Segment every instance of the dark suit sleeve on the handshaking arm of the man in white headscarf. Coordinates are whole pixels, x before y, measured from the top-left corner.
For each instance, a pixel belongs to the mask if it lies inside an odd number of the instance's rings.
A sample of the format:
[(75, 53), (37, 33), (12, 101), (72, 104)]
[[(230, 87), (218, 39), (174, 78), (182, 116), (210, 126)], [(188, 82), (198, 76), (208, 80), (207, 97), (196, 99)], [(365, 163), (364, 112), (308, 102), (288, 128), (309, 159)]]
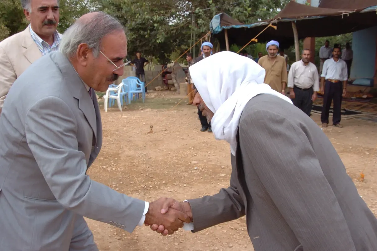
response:
[(236, 175), (231, 174), (230, 186), (218, 194), (188, 200), (193, 215), (193, 233), (245, 215), (245, 205), (235, 185)]

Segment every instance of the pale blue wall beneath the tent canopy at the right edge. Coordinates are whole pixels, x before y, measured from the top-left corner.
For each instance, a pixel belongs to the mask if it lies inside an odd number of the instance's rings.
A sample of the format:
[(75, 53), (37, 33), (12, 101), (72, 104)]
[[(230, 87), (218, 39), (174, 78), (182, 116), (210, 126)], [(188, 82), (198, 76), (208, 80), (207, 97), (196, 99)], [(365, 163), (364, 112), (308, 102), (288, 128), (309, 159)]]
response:
[(353, 32), (351, 79), (372, 79), (375, 72), (377, 26)]

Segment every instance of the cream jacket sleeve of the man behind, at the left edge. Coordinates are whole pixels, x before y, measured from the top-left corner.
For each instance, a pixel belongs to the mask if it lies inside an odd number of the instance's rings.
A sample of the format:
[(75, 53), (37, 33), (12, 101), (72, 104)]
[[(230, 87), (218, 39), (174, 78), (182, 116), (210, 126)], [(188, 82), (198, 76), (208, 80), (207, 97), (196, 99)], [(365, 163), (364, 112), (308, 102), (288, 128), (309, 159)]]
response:
[(0, 47), (0, 115), (3, 109), (6, 95), (11, 89), (11, 86), (16, 80), (16, 74), (14, 72), (11, 62), (9, 62), (8, 55), (5, 50)]

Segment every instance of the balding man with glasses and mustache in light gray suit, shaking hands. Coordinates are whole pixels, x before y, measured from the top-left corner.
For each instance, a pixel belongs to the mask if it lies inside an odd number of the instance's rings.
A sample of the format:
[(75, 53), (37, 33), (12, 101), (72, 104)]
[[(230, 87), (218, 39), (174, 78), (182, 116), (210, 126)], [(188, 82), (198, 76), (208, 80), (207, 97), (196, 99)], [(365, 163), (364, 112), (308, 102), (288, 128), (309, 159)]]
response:
[[(122, 25), (102, 12), (81, 17), (60, 52), (33, 63), (14, 82), (0, 117), (0, 250), (98, 250), (83, 216), (132, 232), (143, 223), (188, 221), (120, 194), (86, 175), (101, 149), (94, 91), (123, 75)], [(46, 71), (48, 69), (48, 71)]]

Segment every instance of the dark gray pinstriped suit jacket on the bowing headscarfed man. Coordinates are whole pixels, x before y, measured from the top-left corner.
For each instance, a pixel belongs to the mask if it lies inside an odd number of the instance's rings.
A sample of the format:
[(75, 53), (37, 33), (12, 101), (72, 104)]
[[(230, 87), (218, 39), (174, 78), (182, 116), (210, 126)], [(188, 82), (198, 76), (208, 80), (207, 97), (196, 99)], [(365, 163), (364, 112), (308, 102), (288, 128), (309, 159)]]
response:
[(230, 187), (189, 200), (194, 232), (246, 214), (255, 251), (377, 250), (375, 216), (308, 115), (258, 95), (242, 113), (238, 142)]

